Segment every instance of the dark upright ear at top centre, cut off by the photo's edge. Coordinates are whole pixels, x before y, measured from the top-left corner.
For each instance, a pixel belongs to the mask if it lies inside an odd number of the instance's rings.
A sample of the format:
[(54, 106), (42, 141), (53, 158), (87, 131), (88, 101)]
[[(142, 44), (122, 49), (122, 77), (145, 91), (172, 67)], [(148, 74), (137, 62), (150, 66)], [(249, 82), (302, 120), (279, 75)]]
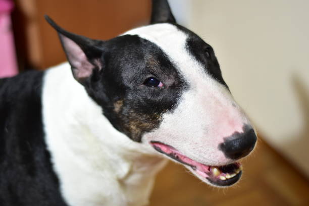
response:
[(150, 24), (176, 23), (167, 0), (152, 0), (152, 12)]

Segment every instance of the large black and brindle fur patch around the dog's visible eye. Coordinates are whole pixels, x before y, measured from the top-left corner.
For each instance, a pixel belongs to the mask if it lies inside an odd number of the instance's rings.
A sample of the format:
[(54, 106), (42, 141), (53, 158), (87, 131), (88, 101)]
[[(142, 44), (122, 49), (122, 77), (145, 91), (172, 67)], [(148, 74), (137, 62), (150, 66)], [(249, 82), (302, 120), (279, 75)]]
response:
[[(139, 142), (143, 133), (160, 125), (163, 113), (173, 111), (186, 83), (148, 40), (125, 35), (102, 44), (102, 69), (93, 73), (86, 90), (116, 129)], [(149, 77), (164, 86), (147, 87), (143, 82)]]

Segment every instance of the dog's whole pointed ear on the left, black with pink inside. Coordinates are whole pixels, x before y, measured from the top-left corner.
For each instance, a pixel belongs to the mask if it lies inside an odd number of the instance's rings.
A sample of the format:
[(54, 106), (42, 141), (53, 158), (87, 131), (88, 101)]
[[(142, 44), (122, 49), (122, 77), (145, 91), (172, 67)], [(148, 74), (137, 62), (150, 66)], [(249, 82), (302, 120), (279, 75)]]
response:
[(52, 19), (45, 15), (46, 21), (54, 27), (59, 35), (67, 59), (72, 67), (74, 78), (83, 84), (91, 76), (94, 69), (102, 68), (102, 50), (99, 49), (99, 40), (70, 33), (59, 27)]

